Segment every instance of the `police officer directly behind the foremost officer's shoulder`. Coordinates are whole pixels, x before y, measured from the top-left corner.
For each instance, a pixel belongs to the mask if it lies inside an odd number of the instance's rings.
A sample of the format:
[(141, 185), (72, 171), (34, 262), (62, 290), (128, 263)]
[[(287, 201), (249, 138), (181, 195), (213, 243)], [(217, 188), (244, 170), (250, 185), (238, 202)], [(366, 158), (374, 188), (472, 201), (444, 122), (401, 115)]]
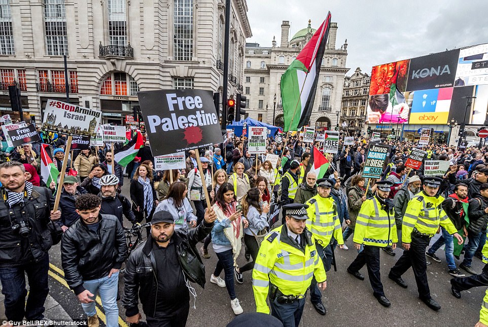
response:
[[(307, 229), (312, 233), (316, 240), (317, 253), (322, 259), (325, 271), (330, 270), (332, 263), (332, 236), (337, 240), (339, 247), (342, 248), (342, 229), (340, 221), (337, 219), (337, 207), (334, 199), (330, 196), (330, 191), (335, 183), (327, 178), (317, 180), (318, 194), (308, 200), (306, 221)], [(317, 286), (317, 280), (312, 278), (310, 284), (310, 301), (321, 315), (327, 313), (322, 303), (322, 294)]]

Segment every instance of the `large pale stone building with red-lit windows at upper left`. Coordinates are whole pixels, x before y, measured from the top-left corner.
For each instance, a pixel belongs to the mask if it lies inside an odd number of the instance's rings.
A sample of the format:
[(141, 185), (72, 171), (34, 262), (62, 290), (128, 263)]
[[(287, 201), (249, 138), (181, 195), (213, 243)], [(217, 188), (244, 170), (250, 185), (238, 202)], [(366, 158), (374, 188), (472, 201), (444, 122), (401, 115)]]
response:
[[(232, 1), (231, 94), (242, 89), (247, 11), (246, 0)], [(37, 120), (47, 99), (65, 101), (68, 79), (70, 102), (119, 125), (139, 90), (222, 91), (223, 0), (0, 0), (0, 12), (1, 113), (13, 84)]]

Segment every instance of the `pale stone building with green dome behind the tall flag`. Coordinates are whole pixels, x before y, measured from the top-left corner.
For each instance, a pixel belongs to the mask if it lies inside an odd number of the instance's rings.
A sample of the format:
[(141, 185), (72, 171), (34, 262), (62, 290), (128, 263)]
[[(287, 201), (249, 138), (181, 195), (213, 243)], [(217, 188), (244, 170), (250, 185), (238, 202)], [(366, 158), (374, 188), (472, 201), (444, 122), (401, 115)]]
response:
[[(253, 119), (275, 126), (284, 124), (281, 76), (316, 31), (308, 21), (308, 26), (290, 39), (290, 28), (290, 22), (283, 21), (279, 46), (275, 37), (271, 47), (246, 44), (243, 93), (248, 99), (247, 113)], [(347, 40), (337, 49), (336, 35), (337, 23), (331, 23), (310, 126), (330, 129), (337, 125), (344, 76), (349, 68), (346, 68)]]

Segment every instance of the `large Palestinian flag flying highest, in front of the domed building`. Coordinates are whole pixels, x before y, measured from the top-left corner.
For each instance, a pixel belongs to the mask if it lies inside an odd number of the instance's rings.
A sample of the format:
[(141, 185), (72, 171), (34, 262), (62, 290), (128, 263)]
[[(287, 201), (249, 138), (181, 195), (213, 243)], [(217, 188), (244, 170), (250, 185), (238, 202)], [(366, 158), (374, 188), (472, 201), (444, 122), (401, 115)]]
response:
[(285, 132), (298, 130), (310, 119), (329, 27), (330, 12), (327, 19), (282, 75), (281, 97)]

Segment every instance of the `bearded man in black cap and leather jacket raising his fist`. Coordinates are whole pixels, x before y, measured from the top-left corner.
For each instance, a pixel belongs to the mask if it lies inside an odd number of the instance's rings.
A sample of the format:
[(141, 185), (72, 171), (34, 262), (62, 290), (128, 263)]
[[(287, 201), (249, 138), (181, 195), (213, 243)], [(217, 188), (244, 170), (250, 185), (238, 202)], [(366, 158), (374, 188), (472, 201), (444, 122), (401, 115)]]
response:
[[(149, 326), (185, 326), (190, 310), (189, 281), (205, 284), (205, 267), (195, 244), (212, 231), (217, 215), (206, 209), (196, 229), (175, 231), (174, 217), (167, 211), (154, 213), (151, 238), (131, 252), (124, 275), (127, 322), (138, 323), (138, 298)], [(188, 289), (187, 289), (188, 287)]]

